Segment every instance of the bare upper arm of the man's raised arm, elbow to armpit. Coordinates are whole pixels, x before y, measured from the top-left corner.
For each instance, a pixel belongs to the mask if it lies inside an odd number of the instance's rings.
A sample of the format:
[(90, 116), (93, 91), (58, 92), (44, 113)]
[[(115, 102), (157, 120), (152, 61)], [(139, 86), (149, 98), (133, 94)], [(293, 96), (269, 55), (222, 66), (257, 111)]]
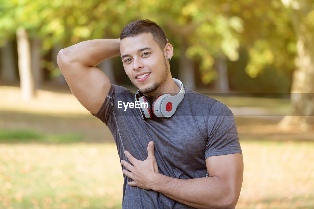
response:
[(97, 67), (78, 62), (61, 63), (59, 67), (76, 99), (95, 115), (109, 92), (109, 78)]

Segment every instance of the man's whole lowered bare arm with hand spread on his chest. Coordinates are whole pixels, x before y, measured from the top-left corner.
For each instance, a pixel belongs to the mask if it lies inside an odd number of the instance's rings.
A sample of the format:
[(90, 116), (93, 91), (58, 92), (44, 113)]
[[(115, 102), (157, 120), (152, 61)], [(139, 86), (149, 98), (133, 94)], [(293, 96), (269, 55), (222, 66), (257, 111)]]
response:
[[(159, 173), (154, 156), (154, 143), (149, 142), (147, 159), (133, 157), (125, 151), (130, 163), (122, 160), (127, 169), (122, 172), (133, 179), (128, 185), (145, 190), (155, 190), (165, 196), (196, 208), (235, 208), (243, 180), (243, 158), (241, 153), (211, 156), (206, 158), (210, 177), (177, 179)], [(212, 169), (208, 169), (212, 168)]]

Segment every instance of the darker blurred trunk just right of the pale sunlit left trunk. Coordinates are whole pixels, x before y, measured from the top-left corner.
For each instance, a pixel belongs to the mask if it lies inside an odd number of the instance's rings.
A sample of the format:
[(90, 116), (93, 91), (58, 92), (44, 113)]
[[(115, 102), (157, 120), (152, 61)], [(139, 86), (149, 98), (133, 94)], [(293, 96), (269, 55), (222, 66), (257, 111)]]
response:
[(35, 38), (31, 41), (31, 66), (32, 66), (32, 72), (34, 75), (34, 81), (35, 81), (35, 88), (41, 88), (41, 85), (43, 83), (43, 72), (42, 68), (40, 66), (41, 62), (41, 40), (38, 38)]

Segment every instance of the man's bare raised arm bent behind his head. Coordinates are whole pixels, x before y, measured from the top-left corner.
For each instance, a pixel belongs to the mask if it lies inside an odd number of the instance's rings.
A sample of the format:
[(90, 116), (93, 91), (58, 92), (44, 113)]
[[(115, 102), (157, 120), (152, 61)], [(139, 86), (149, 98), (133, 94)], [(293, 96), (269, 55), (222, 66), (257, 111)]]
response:
[(120, 39), (96, 39), (62, 49), (57, 56), (72, 93), (93, 114), (100, 109), (111, 85), (105, 73), (95, 66), (119, 55)]

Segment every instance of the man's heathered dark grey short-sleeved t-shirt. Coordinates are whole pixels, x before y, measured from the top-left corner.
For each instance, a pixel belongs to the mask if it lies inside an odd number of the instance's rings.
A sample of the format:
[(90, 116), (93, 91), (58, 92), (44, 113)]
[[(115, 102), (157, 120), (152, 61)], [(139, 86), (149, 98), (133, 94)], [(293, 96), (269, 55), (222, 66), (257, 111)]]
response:
[[(142, 119), (139, 109), (117, 108), (118, 101), (133, 102), (134, 94), (111, 85), (95, 115), (110, 129), (120, 160), (124, 151), (135, 158), (147, 158), (147, 146), (155, 144), (154, 156), (160, 174), (179, 179), (206, 177), (205, 159), (210, 156), (242, 153), (236, 122), (221, 102), (185, 88), (185, 96), (170, 118)], [(125, 169), (122, 166), (122, 169)], [(160, 192), (131, 187), (124, 175), (122, 208), (192, 208)]]

